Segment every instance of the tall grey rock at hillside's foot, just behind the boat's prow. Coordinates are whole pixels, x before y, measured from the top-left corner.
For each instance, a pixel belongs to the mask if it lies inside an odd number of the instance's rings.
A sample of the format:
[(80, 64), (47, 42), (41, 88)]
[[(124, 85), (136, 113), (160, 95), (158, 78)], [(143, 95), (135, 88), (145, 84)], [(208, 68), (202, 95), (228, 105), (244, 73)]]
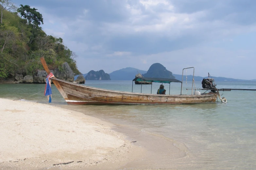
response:
[(56, 68), (53, 71), (53, 74), (56, 78), (59, 78), (61, 80), (66, 80), (66, 81), (70, 81), (70, 82), (74, 81), (75, 74), (73, 73), (72, 69), (70, 68), (70, 66), (68, 65), (67, 62), (62, 64), (61, 69)]

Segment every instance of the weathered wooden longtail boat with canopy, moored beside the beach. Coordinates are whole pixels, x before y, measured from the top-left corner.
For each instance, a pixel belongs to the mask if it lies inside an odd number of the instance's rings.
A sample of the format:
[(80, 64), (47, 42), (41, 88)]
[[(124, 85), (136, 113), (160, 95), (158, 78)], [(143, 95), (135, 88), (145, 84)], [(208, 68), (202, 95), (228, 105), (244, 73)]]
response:
[[(50, 70), (44, 60), (41, 57), (41, 62), (47, 74), (50, 74)], [(192, 67), (191, 67), (192, 68)], [(193, 67), (194, 68), (194, 67)], [(186, 68), (187, 69), (187, 68)], [(184, 70), (184, 69), (183, 69)], [(193, 75), (194, 77), (194, 75)], [(135, 78), (136, 79), (136, 78)], [(135, 81), (133, 79), (132, 81)], [(163, 95), (163, 94), (146, 94), (135, 92), (121, 92), (114, 90), (106, 90), (95, 87), (89, 87), (72, 83), (69, 81), (61, 80), (59, 78), (51, 78), (52, 82), (59, 90), (67, 104), (71, 105), (85, 105), (85, 104), (196, 104), (196, 103), (214, 103), (218, 97), (216, 93), (200, 94), (196, 93), (191, 95)], [(182, 81), (176, 79), (161, 79), (161, 78), (140, 78), (137, 81), (147, 82), (160, 82), (160, 83), (181, 83), (182, 93)], [(193, 78), (194, 80), (194, 78)], [(193, 81), (194, 83), (194, 81)], [(192, 91), (193, 91), (192, 83)], [(133, 85), (133, 83), (132, 83)], [(151, 85), (152, 92), (152, 85)]]

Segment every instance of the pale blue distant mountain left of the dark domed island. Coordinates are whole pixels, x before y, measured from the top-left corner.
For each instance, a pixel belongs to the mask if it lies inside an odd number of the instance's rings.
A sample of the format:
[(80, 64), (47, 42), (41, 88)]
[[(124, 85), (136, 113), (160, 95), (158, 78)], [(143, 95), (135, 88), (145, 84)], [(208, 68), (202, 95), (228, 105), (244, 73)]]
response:
[(137, 68), (127, 67), (113, 71), (109, 75), (111, 80), (133, 80), (136, 74), (144, 74), (146, 72), (147, 71), (139, 70)]

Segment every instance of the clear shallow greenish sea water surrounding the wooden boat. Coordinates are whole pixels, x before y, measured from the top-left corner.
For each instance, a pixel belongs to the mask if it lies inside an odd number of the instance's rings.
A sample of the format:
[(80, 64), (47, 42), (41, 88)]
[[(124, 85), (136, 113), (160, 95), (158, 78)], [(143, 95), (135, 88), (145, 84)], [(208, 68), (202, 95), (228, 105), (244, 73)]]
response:
[[(86, 81), (85, 85), (151, 93), (151, 85), (133, 83), (132, 89), (131, 81)], [(152, 84), (152, 93), (157, 92), (159, 85)], [(180, 94), (180, 85), (171, 83), (170, 94)], [(201, 88), (201, 82), (196, 81), (195, 85)], [(169, 94), (169, 84), (164, 86)], [(191, 81), (183, 82), (182, 94), (191, 94), (191, 90), (186, 90), (191, 88)], [(217, 82), (217, 88), (256, 89), (256, 82), (223, 81)], [(54, 86), (52, 91), (51, 105), (110, 121), (138, 145), (151, 149), (151, 157), (145, 157), (140, 164), (127, 165), (128, 168), (256, 169), (256, 91), (220, 92), (227, 103), (218, 100), (209, 104), (114, 106), (71, 106)], [(0, 84), (1, 98), (47, 103), (43, 93), (43, 84)], [(175, 158), (164, 140), (170, 141), (184, 155)]]

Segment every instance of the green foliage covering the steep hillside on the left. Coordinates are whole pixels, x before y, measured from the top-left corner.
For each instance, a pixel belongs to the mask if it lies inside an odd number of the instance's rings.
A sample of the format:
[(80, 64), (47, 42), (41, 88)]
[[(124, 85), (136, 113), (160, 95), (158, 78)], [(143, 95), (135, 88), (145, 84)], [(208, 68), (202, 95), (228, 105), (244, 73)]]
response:
[[(41, 14), (38, 21), (33, 17), (30, 21), (38, 24), (41, 22), (40, 17)], [(37, 70), (43, 70), (40, 62), (42, 56), (51, 70), (61, 68), (67, 62), (75, 75), (80, 74), (75, 61), (76, 54), (62, 42), (62, 38), (46, 35), (38, 25), (27, 24), (27, 20), (20, 18), (17, 13), (3, 10), (3, 24), (0, 25), (0, 78), (15, 73), (33, 76)]]

